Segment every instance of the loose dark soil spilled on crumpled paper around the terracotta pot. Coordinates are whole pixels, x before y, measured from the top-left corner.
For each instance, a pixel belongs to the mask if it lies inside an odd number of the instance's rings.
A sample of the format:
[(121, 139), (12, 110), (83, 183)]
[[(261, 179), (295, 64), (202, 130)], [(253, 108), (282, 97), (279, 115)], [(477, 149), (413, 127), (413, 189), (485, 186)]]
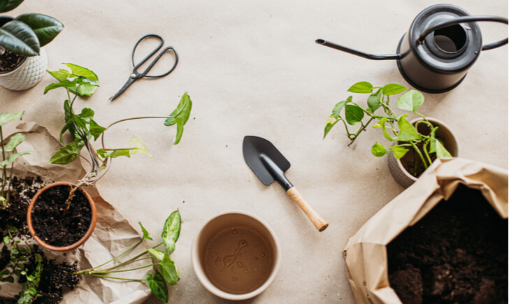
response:
[[(0, 240), (7, 236), (9, 227), (16, 227), (17, 231), (11, 233), (13, 238), (30, 240), (31, 236), (27, 228), (27, 209), (31, 198), (41, 189), (45, 183), (41, 178), (17, 178), (13, 177), (10, 191), (10, 202), (6, 210), (0, 210)], [(73, 272), (78, 270), (77, 261), (71, 263), (58, 263), (55, 260), (45, 257), (43, 250), (36, 245), (31, 246), (34, 253), (43, 257), (43, 271), (41, 282), (38, 285), (37, 293), (41, 294), (36, 298), (34, 304), (52, 304), (62, 301), (64, 292), (76, 288), (80, 277)], [(5, 270), (10, 262), (10, 247), (3, 245), (0, 241), (0, 272)], [(65, 255), (65, 254), (64, 254)], [(35, 268), (34, 254), (28, 261), (23, 263), (27, 273), (33, 273)], [(24, 277), (20, 277), (20, 284), (24, 283)], [(1, 287), (0, 287), (1, 289)], [(0, 290), (0, 303), (17, 303), (16, 298), (6, 298)]]

